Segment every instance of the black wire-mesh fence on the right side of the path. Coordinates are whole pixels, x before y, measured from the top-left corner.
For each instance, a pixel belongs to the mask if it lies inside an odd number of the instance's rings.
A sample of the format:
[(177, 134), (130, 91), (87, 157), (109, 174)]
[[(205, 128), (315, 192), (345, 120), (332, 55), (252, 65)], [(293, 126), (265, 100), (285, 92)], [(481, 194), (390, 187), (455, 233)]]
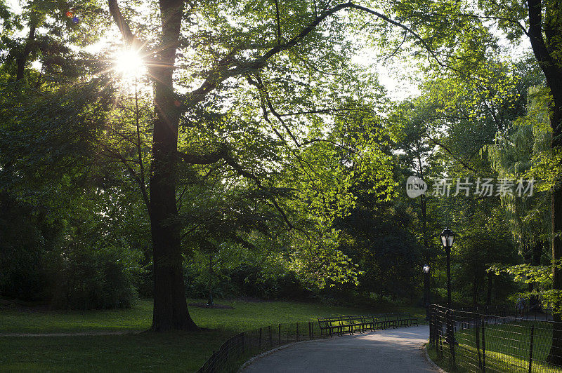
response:
[(562, 323), (438, 305), (429, 319), (429, 348), (447, 371), (562, 373)]

